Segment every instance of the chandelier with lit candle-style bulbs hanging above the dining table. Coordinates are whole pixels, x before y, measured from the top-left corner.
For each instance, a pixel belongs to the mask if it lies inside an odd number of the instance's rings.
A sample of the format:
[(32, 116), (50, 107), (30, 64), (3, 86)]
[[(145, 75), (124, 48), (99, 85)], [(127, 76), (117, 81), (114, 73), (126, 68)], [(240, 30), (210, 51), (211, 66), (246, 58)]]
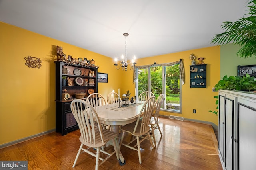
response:
[(134, 70), (135, 64), (137, 64), (137, 63), (135, 62), (135, 56), (134, 56), (134, 58), (132, 59), (132, 63), (127, 62), (127, 56), (126, 56), (126, 37), (127, 37), (129, 34), (128, 34), (128, 33), (124, 33), (123, 35), (125, 36), (125, 58), (124, 58), (124, 56), (122, 55), (122, 61), (120, 62), (119, 68), (117, 68), (117, 66), (118, 66), (118, 64), (117, 64), (117, 58), (115, 58), (116, 63), (114, 64), (114, 66), (116, 66), (116, 70), (119, 70), (119, 69), (122, 67), (123, 70), (127, 71), (128, 64), (130, 64), (130, 70)]

